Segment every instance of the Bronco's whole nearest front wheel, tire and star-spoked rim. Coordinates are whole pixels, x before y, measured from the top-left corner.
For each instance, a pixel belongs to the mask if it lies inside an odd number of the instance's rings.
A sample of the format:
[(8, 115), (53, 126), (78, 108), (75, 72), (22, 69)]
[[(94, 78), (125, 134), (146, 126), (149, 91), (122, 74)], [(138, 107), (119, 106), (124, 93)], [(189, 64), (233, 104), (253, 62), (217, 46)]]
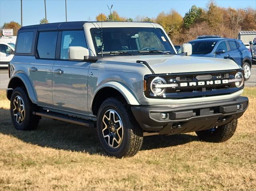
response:
[(116, 98), (108, 98), (100, 106), (97, 132), (102, 147), (110, 156), (134, 156), (142, 146), (142, 129), (126, 104)]

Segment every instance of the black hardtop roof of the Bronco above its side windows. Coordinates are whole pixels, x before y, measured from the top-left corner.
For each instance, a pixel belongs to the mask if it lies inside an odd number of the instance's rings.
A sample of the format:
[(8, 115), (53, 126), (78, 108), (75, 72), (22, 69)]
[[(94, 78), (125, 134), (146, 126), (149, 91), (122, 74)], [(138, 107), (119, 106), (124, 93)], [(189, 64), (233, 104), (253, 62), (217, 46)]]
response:
[(20, 30), (32, 29), (32, 28), (37, 28), (38, 31), (78, 30), (78, 29), (83, 29), (83, 26), (86, 22), (87, 21), (74, 21), (74, 22), (59, 22), (59, 23), (48, 23), (48, 24), (41, 24), (41, 25), (30, 25), (30, 26), (24, 26), (20, 28)]

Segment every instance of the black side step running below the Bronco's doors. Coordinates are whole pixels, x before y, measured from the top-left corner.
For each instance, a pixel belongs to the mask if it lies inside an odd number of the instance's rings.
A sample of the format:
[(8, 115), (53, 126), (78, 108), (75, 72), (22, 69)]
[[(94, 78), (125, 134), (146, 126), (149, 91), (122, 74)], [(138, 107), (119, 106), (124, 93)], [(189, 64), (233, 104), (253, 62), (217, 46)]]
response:
[(78, 125), (82, 125), (82, 126), (86, 126), (86, 127), (95, 127), (96, 126), (94, 121), (75, 118), (75, 117), (71, 117), (68, 115), (59, 114), (56, 112), (40, 111), (40, 112), (33, 112), (33, 114), (42, 116), (42, 117), (60, 120), (60, 121), (65, 121), (65, 122), (69, 122), (69, 123), (74, 123), (74, 124), (78, 124)]

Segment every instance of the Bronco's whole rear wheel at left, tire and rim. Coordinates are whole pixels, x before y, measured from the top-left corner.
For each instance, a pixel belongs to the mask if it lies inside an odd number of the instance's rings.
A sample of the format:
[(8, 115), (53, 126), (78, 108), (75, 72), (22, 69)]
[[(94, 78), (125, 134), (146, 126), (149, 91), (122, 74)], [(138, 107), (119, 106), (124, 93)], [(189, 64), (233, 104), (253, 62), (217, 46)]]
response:
[(17, 130), (33, 130), (38, 126), (39, 116), (33, 115), (33, 104), (24, 89), (14, 89), (10, 100), (12, 123)]

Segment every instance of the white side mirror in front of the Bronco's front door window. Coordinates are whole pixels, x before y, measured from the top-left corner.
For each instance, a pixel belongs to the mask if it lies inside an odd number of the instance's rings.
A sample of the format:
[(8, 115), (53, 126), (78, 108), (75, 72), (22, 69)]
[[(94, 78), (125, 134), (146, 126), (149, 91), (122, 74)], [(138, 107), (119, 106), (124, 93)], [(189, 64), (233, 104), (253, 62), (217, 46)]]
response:
[(68, 58), (70, 60), (84, 60), (85, 56), (89, 56), (89, 50), (82, 46), (70, 46), (68, 48)]

